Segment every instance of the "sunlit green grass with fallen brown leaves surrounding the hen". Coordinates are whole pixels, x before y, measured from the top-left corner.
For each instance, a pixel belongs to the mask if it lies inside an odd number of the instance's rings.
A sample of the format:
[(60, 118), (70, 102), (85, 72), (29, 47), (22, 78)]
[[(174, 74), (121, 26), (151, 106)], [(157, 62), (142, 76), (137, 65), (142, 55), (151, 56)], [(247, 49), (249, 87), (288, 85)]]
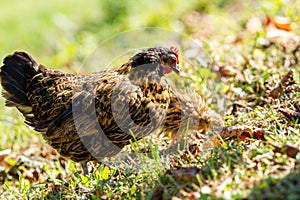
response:
[[(120, 31), (143, 26), (181, 30), (201, 40), (210, 62), (208, 68), (183, 62), (186, 75), (175, 83), (195, 89), (215, 109), (214, 95), (225, 98), (226, 126), (259, 127), (266, 130), (268, 142), (300, 148), (299, 121), (278, 110), (288, 107), (299, 112), (299, 91), (274, 100), (267, 97), (268, 87), (274, 88), (289, 69), (294, 70), (299, 87), (299, 50), (285, 50), (276, 42), (263, 46), (265, 29), (257, 34), (245, 30), (251, 17), (285, 15), (297, 25), (293, 32), (299, 35), (299, 2), (208, 2), (151, 1), (143, 7), (142, 1), (0, 1), (0, 55), (22, 49), (46, 66), (74, 72), (101, 41)], [(241, 41), (234, 43), (238, 36)], [(218, 79), (211, 72), (215, 67), (228, 72)], [(11, 153), (5, 160), (0, 156), (1, 199), (151, 199), (153, 194), (184, 199), (196, 193), (199, 199), (300, 197), (300, 154), (291, 158), (262, 140), (208, 137), (203, 141), (189, 135), (183, 143), (199, 151), (188, 148), (168, 154), (169, 139), (154, 134), (105, 160), (111, 168), (91, 164), (94, 172), (83, 176), (79, 164), (61, 158), (23, 121), (16, 109), (4, 106), (2, 98), (0, 151), (11, 149)], [(216, 142), (205, 146), (210, 140)]]

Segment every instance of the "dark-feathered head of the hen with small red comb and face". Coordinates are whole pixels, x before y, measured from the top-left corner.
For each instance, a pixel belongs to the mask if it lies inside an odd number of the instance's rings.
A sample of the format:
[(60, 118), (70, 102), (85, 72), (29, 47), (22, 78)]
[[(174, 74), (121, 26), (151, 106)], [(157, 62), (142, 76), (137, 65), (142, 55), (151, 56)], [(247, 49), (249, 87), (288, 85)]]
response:
[(175, 47), (151, 47), (137, 52), (131, 57), (133, 67), (148, 65), (149, 69), (157, 70), (161, 75), (172, 71), (179, 74), (178, 49)]

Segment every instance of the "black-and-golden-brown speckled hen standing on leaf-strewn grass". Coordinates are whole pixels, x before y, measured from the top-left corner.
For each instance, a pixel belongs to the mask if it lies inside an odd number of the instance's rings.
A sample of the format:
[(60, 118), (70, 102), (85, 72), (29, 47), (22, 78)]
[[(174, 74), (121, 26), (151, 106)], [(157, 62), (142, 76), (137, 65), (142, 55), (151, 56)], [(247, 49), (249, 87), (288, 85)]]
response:
[(76, 76), (15, 52), (1, 67), (3, 96), (6, 106), (16, 107), (25, 123), (42, 132), (60, 155), (81, 162), (87, 173), (87, 161), (116, 155), (133, 134), (139, 140), (160, 128), (178, 131), (182, 106), (203, 121), (197, 98), (195, 105), (187, 106), (187, 99), (172, 92), (164, 78), (179, 73), (177, 53), (174, 48), (148, 48), (120, 68)]

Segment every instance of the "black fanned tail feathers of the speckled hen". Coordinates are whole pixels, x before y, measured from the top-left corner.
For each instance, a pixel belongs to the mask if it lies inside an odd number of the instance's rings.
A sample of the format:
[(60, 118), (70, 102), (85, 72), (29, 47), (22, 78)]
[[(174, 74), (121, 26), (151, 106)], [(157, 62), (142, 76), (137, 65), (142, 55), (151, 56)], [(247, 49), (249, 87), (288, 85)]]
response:
[(38, 64), (25, 52), (7, 56), (3, 64), (0, 78), (6, 106), (16, 106), (23, 114), (29, 113), (31, 105), (26, 96), (26, 87), (37, 74)]

